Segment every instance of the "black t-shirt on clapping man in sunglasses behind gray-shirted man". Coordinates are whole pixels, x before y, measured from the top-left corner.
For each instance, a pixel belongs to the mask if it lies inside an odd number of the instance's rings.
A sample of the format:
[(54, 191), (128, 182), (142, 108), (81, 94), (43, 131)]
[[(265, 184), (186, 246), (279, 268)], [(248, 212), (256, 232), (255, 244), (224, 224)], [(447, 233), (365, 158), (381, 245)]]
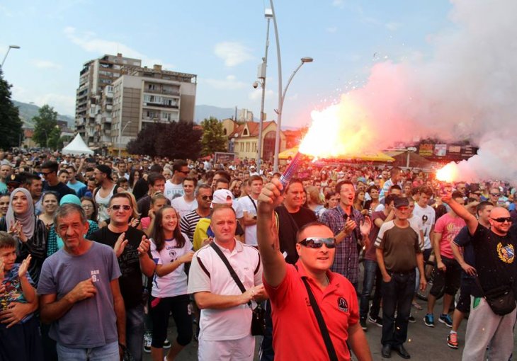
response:
[[(120, 233), (114, 233), (110, 231), (108, 227), (103, 227), (91, 236), (91, 240), (107, 244), (113, 248), (118, 236), (120, 236)], [(130, 309), (142, 303), (142, 270), (140, 270), (140, 258), (138, 257), (137, 250), (142, 241), (142, 236), (144, 236), (144, 232), (129, 227), (125, 232), (127, 245), (118, 258), (120, 273), (122, 273), (118, 282), (126, 309)]]

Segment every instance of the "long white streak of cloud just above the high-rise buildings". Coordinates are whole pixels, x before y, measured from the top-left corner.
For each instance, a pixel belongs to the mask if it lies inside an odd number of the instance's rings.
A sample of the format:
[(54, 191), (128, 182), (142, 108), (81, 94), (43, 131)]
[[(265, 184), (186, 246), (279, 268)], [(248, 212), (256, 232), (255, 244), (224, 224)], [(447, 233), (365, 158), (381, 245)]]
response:
[(132, 47), (129, 47), (120, 42), (96, 38), (96, 34), (91, 31), (85, 31), (79, 34), (75, 28), (68, 26), (67, 28), (64, 28), (63, 32), (70, 41), (76, 45), (79, 45), (79, 47), (81, 47), (86, 52), (94, 52), (96, 55), (114, 55), (120, 52), (124, 57), (142, 59), (142, 65), (147, 65), (147, 67), (152, 67), (153, 64), (161, 64), (164, 66), (164, 69), (174, 68), (174, 64), (167, 64), (161, 59), (147, 57), (147, 55), (144, 55), (138, 50), (132, 49)]

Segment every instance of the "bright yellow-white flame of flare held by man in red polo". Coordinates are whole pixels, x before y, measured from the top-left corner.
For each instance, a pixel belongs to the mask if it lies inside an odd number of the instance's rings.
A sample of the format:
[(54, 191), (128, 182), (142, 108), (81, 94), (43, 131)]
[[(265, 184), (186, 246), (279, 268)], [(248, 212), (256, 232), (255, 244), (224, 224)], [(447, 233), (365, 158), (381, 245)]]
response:
[[(300, 144), (300, 152), (318, 158), (336, 158), (348, 154), (360, 154), (371, 137), (362, 122), (370, 115), (344, 95), (341, 102), (311, 114), (312, 125)], [(369, 149), (371, 151), (371, 149)]]

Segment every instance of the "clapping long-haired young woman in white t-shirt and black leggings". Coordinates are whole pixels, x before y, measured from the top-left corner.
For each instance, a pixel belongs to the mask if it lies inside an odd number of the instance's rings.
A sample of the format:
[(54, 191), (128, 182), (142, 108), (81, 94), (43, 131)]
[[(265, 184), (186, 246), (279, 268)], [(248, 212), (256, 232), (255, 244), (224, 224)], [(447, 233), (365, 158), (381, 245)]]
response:
[(164, 341), (172, 313), (178, 338), (172, 343), (166, 360), (174, 357), (191, 342), (192, 319), (188, 314), (187, 275), (185, 264), (190, 263), (194, 252), (192, 243), (179, 228), (178, 212), (171, 206), (162, 207), (154, 219), (151, 255), (157, 263), (151, 291), (152, 343), (154, 361), (164, 360)]

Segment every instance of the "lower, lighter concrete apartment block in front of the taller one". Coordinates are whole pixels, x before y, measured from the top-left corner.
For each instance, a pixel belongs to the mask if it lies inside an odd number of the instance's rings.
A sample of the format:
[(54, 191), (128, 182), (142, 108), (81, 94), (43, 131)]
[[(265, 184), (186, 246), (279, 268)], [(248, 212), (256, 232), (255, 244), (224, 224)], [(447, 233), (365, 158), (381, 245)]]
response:
[(154, 67), (130, 67), (113, 83), (113, 149), (153, 122), (193, 122), (197, 76)]

